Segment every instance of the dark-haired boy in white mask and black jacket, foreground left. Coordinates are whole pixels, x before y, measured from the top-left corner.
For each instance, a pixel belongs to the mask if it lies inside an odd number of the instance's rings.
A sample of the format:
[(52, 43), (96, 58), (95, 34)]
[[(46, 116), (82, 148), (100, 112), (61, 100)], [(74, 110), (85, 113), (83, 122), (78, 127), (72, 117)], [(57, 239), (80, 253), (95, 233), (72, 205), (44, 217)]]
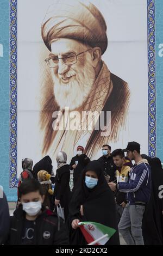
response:
[(44, 196), (39, 181), (24, 180), (19, 188), (21, 205), (10, 221), (7, 245), (68, 245), (61, 218), (42, 206)]

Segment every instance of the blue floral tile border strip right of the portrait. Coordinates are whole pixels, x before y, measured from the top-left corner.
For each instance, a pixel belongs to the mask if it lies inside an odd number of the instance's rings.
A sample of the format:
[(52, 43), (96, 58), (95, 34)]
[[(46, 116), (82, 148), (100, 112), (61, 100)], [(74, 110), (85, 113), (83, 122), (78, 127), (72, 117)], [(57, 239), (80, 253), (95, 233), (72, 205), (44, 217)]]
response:
[(148, 152), (156, 156), (155, 0), (147, 0), (148, 17)]

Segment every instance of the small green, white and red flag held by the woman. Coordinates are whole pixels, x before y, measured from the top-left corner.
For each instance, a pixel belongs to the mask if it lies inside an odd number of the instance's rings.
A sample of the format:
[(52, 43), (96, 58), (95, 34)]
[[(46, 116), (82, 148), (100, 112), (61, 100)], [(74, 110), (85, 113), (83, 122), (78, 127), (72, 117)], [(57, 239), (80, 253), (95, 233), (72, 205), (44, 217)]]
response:
[(78, 225), (89, 245), (105, 245), (116, 232), (115, 229), (96, 222), (79, 222)]

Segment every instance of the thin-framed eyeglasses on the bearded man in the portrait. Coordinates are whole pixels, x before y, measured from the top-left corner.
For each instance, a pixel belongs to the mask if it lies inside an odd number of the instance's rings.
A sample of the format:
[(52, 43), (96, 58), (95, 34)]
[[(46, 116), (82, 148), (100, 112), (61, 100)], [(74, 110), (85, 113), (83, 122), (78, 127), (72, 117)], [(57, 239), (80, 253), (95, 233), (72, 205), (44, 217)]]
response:
[(80, 54), (85, 53), (87, 51), (90, 51), (90, 50), (92, 50), (92, 49), (89, 48), (88, 50), (86, 50), (84, 52), (80, 52), (78, 54), (70, 53), (63, 58), (49, 57), (49, 58), (45, 59), (45, 62), (47, 63), (49, 68), (56, 68), (58, 66), (59, 59), (62, 59), (63, 62), (65, 63), (65, 65), (73, 65), (73, 64), (77, 63), (77, 61), (78, 61), (77, 56), (79, 56)]

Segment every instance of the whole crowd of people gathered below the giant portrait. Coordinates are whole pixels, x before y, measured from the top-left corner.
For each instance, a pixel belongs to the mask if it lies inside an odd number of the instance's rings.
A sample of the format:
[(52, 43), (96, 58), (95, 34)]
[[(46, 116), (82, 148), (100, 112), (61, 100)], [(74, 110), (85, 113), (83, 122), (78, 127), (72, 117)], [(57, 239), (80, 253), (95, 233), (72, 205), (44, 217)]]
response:
[(70, 164), (63, 151), (56, 161), (54, 175), (49, 156), (34, 167), (22, 160), (13, 216), (0, 193), (1, 244), (87, 245), (79, 222), (96, 222), (115, 230), (105, 245), (120, 245), (120, 233), (127, 245), (163, 245), (163, 169), (158, 158), (141, 155), (139, 143), (112, 153), (105, 144), (93, 161), (78, 146)]

